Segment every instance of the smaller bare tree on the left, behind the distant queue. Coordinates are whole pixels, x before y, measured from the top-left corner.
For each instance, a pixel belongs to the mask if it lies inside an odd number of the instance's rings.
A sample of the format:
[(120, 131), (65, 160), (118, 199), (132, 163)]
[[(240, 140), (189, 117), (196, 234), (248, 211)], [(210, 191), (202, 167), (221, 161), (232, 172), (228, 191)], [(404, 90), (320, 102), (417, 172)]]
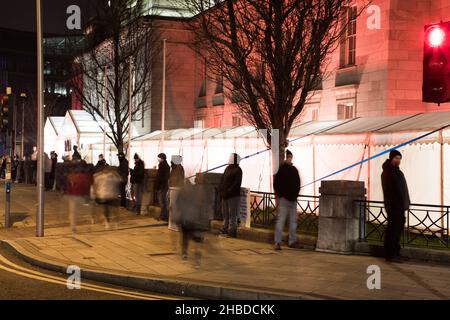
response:
[[(75, 97), (124, 151), (128, 129), (148, 108), (153, 56), (159, 50), (154, 22), (143, 16), (145, 0), (100, 0), (87, 29), (85, 51), (74, 64)], [(132, 104), (129, 104), (131, 94)], [(104, 121), (104, 122), (103, 122)]]

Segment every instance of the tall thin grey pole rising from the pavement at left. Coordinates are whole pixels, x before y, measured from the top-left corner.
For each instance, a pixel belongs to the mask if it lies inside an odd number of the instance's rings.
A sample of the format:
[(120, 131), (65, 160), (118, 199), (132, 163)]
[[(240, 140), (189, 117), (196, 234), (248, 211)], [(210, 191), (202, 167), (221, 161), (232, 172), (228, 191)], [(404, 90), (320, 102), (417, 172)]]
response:
[(38, 125), (38, 167), (37, 193), (38, 210), (36, 214), (36, 236), (44, 236), (44, 55), (42, 51), (42, 5), (36, 0), (37, 30), (37, 125)]

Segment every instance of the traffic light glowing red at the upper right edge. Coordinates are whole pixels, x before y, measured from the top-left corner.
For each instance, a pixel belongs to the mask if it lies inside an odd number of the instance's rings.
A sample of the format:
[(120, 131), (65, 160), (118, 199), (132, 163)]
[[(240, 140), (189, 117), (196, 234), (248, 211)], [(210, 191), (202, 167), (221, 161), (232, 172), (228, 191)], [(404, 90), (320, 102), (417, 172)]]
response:
[(450, 101), (450, 22), (425, 26), (423, 101)]

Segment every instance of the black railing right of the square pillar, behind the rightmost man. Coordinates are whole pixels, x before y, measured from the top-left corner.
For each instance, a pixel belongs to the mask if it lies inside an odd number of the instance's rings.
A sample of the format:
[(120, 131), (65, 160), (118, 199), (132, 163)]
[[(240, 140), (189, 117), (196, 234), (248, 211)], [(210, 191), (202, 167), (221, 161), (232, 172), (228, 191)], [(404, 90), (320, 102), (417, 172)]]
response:
[[(357, 201), (360, 241), (383, 243), (387, 213), (382, 201)], [(406, 214), (403, 246), (450, 249), (450, 206), (412, 204)]]

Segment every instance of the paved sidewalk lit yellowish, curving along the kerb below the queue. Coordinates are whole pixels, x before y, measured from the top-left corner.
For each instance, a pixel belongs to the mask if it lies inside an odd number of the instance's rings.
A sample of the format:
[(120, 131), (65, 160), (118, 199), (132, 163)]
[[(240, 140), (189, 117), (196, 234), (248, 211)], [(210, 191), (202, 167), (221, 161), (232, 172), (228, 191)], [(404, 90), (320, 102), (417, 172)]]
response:
[[(2, 205), (0, 203), (0, 205)], [(57, 210), (56, 210), (57, 211)], [(176, 296), (210, 299), (450, 299), (450, 268), (431, 263), (387, 263), (370, 256), (337, 255), (222, 238), (207, 233), (181, 259), (180, 234), (149, 216), (126, 213), (114, 229), (83, 224), (76, 234), (48, 226), (44, 238), (30, 226), (1, 230), (2, 245), (41, 268)], [(30, 222), (31, 223), (31, 222)], [(195, 259), (195, 252), (201, 259)], [(380, 289), (368, 289), (369, 270), (380, 270)], [(375, 269), (377, 269), (375, 267)]]

